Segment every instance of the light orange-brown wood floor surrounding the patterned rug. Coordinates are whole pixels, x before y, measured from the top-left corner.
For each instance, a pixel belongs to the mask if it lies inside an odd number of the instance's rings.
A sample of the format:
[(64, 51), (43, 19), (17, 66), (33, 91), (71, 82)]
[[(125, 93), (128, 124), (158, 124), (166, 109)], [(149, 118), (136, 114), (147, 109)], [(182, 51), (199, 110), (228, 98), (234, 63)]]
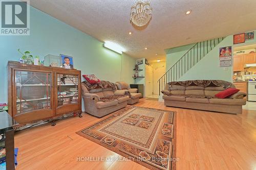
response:
[[(165, 107), (145, 99), (136, 106), (177, 111), (177, 169), (256, 169), (256, 111), (232, 115)], [(17, 132), (17, 170), (147, 169), (133, 161), (117, 161), (118, 154), (75, 133), (99, 120), (83, 114), (58, 120), (55, 127), (48, 123)], [(77, 161), (77, 157), (113, 160)]]

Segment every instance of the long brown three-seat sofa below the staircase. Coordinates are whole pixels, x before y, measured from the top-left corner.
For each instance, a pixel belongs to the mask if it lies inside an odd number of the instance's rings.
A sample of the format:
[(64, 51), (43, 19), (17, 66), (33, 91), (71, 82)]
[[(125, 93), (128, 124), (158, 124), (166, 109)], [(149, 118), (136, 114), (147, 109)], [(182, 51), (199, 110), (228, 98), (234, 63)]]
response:
[(242, 114), (246, 93), (237, 92), (227, 99), (215, 97), (229, 87), (235, 88), (223, 80), (190, 80), (169, 82), (161, 92), (165, 106)]

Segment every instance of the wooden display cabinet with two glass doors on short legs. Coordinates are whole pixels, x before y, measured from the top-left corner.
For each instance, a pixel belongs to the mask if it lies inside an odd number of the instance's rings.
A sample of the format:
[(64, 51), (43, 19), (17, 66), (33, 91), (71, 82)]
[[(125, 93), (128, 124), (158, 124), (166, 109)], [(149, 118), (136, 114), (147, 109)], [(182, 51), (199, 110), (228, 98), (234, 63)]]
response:
[(8, 113), (20, 125), (81, 117), (81, 71), (8, 62)]

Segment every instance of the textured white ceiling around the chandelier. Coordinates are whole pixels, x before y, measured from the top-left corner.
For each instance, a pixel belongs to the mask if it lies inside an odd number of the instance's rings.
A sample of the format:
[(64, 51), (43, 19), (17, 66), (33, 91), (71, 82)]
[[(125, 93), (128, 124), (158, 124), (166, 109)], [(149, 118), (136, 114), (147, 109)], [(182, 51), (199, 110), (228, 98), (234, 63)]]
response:
[[(30, 4), (102, 42), (116, 42), (126, 49), (125, 53), (150, 62), (164, 59), (166, 48), (256, 28), (255, 0), (152, 0), (153, 17), (143, 30), (130, 23), (132, 0), (31, 0)], [(185, 15), (187, 10), (192, 13)]]

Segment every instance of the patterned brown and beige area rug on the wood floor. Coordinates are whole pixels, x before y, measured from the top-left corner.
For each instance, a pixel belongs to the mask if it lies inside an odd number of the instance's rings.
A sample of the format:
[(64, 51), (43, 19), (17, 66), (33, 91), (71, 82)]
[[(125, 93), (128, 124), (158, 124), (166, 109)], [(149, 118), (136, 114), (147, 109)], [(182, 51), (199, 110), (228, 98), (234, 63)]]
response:
[(176, 169), (176, 113), (131, 106), (77, 134), (151, 169)]

